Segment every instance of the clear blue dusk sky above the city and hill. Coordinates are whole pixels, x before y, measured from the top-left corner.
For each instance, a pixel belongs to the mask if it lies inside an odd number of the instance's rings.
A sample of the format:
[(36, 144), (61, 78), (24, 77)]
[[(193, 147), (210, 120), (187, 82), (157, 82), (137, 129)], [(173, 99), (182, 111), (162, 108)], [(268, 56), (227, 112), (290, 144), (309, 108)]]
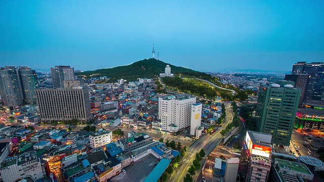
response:
[[(0, 66), (199, 71), (324, 61), (324, 1), (0, 1)], [(156, 56), (157, 57), (157, 56)]]

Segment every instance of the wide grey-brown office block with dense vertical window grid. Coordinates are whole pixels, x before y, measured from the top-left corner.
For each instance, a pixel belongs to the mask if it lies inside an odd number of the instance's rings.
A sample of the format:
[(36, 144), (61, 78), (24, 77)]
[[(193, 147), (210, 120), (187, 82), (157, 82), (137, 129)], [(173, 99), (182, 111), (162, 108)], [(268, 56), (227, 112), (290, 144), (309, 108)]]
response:
[(42, 121), (91, 119), (88, 88), (36, 89), (36, 95)]

